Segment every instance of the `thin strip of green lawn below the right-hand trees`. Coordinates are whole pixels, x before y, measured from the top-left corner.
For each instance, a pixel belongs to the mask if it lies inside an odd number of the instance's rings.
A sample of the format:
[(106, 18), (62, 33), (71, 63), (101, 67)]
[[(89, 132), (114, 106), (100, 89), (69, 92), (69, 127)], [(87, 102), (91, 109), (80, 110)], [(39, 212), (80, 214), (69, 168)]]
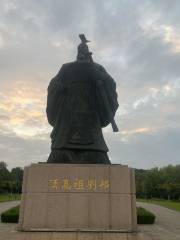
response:
[(180, 212), (180, 201), (162, 200), (162, 199), (137, 199), (138, 202), (154, 203)]

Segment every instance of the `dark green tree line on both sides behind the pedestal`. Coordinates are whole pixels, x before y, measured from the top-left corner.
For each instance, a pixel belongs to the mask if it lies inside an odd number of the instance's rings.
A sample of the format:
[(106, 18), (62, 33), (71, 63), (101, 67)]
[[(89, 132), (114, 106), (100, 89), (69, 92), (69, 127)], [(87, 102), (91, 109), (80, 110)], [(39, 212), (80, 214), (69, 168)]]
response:
[[(180, 165), (169, 165), (150, 170), (135, 169), (136, 195), (138, 198), (180, 200)], [(23, 169), (7, 169), (0, 162), (0, 194), (21, 193)]]

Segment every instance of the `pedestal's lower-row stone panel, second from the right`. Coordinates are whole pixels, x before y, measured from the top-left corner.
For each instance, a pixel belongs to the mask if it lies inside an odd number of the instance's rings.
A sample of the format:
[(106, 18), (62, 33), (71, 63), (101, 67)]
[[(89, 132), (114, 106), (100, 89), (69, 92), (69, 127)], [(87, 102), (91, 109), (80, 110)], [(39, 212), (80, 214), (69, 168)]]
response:
[(91, 194), (89, 196), (89, 228), (109, 228), (108, 194)]

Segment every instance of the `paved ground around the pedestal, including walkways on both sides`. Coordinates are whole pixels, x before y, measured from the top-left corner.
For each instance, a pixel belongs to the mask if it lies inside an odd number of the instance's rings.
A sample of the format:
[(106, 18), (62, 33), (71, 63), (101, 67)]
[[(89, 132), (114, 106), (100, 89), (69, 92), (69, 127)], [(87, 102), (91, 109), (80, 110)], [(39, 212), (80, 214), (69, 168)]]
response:
[[(19, 204), (16, 202), (0, 203), (0, 213)], [(137, 234), (122, 233), (30, 233), (16, 231), (17, 224), (0, 223), (0, 240), (180, 240), (180, 213), (149, 203), (139, 206), (156, 214), (154, 225), (139, 225)]]

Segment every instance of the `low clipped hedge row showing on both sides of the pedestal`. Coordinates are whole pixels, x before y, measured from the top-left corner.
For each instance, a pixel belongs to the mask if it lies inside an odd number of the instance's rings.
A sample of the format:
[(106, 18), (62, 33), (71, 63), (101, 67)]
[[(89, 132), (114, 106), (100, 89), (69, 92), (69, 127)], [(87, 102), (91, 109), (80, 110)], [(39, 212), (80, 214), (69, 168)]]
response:
[[(4, 223), (18, 223), (19, 206), (13, 207), (1, 214), (1, 221)], [(142, 207), (137, 207), (137, 223), (138, 224), (153, 224), (155, 215), (145, 210)]]

